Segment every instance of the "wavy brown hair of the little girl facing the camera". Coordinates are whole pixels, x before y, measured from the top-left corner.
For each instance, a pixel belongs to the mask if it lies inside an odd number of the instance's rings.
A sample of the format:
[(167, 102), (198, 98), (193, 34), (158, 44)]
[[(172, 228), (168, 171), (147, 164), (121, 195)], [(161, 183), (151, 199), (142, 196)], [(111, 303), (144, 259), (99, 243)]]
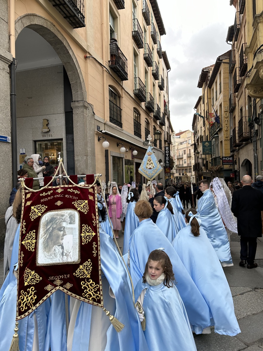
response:
[(148, 274), (149, 261), (156, 261), (160, 263), (160, 266), (164, 270), (163, 284), (167, 287), (173, 287), (173, 284), (175, 281), (173, 265), (171, 264), (168, 254), (162, 250), (154, 250), (149, 254), (149, 257), (145, 266), (145, 270), (143, 273), (143, 277), (142, 277), (143, 283), (146, 283), (146, 274)]

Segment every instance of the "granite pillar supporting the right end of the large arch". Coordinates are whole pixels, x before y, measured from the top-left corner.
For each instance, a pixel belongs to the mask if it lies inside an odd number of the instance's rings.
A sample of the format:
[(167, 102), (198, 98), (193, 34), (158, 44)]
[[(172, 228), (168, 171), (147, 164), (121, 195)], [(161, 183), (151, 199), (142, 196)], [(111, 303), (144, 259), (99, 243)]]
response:
[(87, 101), (73, 101), (75, 173), (96, 172), (94, 113)]

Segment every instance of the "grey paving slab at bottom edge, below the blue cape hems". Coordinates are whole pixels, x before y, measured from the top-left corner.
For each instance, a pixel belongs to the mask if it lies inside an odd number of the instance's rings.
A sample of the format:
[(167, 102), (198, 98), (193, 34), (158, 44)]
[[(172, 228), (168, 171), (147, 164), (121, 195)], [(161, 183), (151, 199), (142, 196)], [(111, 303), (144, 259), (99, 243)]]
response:
[(235, 337), (220, 335), (212, 332), (211, 334), (201, 334), (195, 336), (197, 351), (238, 351), (246, 345)]

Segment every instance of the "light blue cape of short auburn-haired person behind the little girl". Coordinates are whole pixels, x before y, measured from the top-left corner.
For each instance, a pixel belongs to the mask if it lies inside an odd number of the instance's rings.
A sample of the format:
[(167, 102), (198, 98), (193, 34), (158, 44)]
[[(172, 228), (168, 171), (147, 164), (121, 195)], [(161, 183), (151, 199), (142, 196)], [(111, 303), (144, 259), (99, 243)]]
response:
[(133, 284), (136, 286), (142, 278), (150, 252), (160, 247), (164, 248), (173, 265), (176, 287), (186, 307), (192, 330), (201, 334), (204, 328), (210, 326), (209, 307), (173, 245), (150, 218), (142, 220), (130, 238), (130, 272)]

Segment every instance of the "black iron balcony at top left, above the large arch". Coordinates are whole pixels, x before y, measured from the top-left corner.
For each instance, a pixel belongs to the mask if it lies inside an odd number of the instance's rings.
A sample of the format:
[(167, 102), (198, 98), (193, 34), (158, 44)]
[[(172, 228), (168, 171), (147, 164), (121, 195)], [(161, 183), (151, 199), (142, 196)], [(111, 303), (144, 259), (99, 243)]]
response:
[(49, 0), (73, 28), (85, 27), (83, 0)]

